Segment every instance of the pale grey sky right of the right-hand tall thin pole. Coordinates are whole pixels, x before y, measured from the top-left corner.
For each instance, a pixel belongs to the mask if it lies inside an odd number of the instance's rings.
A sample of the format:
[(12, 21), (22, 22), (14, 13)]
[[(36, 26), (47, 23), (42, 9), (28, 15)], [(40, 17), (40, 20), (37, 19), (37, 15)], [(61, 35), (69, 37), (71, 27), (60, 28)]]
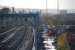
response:
[(61, 9), (75, 9), (75, 0), (59, 0)]

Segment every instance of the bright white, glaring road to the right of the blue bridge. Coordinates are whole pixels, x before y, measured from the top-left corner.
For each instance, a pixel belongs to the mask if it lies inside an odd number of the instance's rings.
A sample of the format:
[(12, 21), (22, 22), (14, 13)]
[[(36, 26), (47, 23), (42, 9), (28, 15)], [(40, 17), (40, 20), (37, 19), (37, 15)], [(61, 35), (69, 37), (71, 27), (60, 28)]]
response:
[(43, 44), (44, 44), (45, 50), (56, 50), (55, 49), (56, 46), (53, 45), (53, 43), (55, 42), (54, 36), (48, 36), (46, 31), (44, 31), (42, 38), (44, 39)]

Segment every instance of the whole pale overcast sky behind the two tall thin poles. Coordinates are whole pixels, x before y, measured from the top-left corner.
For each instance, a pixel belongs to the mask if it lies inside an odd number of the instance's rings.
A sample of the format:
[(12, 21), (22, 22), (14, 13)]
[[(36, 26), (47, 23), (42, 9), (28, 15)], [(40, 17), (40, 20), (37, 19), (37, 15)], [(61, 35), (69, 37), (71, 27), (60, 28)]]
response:
[[(0, 0), (0, 5), (16, 8), (45, 9), (46, 0)], [(60, 9), (75, 9), (75, 0), (59, 0)], [(48, 0), (48, 9), (56, 9), (57, 0)]]

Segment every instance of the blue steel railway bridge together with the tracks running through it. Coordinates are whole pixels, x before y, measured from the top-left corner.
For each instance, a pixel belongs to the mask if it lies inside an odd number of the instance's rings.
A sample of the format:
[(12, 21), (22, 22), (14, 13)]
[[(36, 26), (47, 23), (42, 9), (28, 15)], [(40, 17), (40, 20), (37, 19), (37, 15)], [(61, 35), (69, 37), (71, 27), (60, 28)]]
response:
[(38, 27), (39, 13), (0, 14), (0, 50), (37, 48)]

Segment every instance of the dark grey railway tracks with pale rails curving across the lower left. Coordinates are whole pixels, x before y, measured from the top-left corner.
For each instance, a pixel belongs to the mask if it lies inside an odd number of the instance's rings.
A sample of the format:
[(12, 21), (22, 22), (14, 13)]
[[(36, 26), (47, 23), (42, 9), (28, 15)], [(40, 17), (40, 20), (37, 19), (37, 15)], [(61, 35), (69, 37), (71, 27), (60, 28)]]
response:
[[(14, 27), (6, 32), (0, 34), (0, 50), (21, 50), (17, 49), (22, 46), (25, 39), (32, 38), (30, 33), (26, 33), (27, 28), (25, 26)], [(30, 34), (30, 35), (29, 35)], [(27, 36), (28, 37), (27, 37)], [(32, 41), (28, 41), (29, 43)], [(26, 47), (26, 46), (24, 46)], [(31, 46), (30, 46), (31, 47)]]

